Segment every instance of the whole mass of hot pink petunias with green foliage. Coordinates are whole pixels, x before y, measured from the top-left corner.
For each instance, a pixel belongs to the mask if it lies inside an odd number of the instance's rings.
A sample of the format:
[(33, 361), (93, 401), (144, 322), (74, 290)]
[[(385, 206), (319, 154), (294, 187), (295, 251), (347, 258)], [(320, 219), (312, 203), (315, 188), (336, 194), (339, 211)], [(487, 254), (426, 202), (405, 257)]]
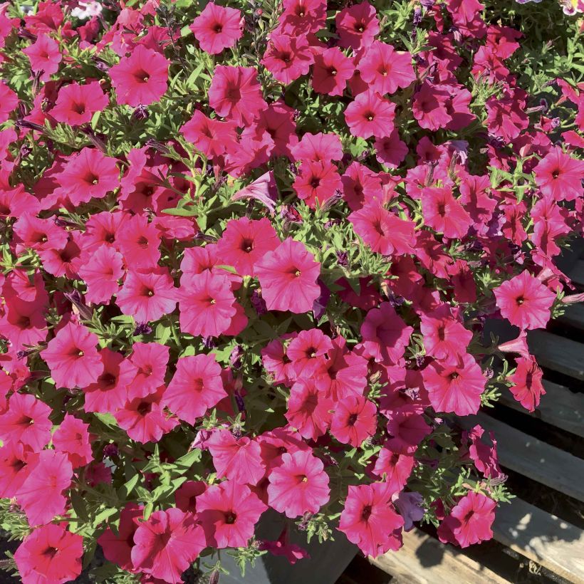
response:
[(0, 568), (491, 538), (465, 418), (538, 407), (527, 333), (582, 300), (582, 9), (0, 4)]

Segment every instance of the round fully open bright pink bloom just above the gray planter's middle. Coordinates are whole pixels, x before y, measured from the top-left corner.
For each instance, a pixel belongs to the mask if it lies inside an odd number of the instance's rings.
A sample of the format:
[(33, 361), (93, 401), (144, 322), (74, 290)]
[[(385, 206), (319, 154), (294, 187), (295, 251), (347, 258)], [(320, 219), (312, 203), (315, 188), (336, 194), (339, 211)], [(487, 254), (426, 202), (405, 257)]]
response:
[(269, 505), (294, 518), (318, 513), (328, 503), (330, 489), (323, 462), (311, 452), (282, 454), (282, 464), (268, 474)]

